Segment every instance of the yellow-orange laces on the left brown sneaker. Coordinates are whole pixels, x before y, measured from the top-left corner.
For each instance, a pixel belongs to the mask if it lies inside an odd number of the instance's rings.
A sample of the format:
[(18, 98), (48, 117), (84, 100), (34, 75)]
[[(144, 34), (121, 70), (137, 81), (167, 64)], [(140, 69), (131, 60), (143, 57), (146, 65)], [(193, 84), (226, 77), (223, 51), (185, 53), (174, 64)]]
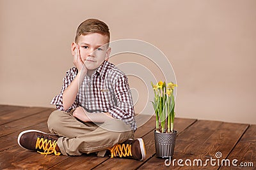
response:
[(57, 145), (56, 141), (52, 143), (52, 141), (49, 139), (44, 139), (44, 138), (36, 139), (36, 149), (39, 148), (40, 150), (44, 150), (44, 152), (38, 151), (38, 153), (45, 155), (45, 157), (51, 153), (54, 153), (54, 155), (57, 155), (57, 156), (61, 154), (60, 152), (57, 152), (55, 150), (56, 145)]

